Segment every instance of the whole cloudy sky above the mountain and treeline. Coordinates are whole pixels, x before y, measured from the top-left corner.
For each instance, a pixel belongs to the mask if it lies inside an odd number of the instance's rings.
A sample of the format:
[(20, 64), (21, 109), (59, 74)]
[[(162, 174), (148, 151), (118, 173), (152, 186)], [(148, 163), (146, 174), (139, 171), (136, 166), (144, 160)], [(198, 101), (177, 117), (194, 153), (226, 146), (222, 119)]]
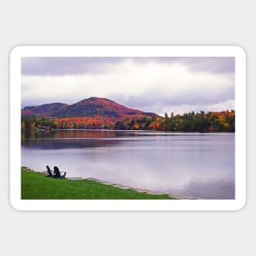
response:
[(21, 104), (105, 97), (155, 112), (235, 109), (234, 57), (23, 57)]

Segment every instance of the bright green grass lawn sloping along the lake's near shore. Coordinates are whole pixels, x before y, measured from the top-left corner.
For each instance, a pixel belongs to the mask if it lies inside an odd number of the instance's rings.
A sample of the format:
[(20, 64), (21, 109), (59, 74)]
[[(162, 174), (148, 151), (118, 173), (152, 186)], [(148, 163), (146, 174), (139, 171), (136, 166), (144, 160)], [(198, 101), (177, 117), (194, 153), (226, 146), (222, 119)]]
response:
[[(51, 199), (153, 199), (169, 200), (168, 195), (149, 195), (124, 190), (115, 186), (104, 185), (89, 180), (70, 181), (45, 177), (43, 173), (35, 173), (21, 169), (21, 199), (51, 200)], [(174, 199), (174, 198), (173, 198)]]

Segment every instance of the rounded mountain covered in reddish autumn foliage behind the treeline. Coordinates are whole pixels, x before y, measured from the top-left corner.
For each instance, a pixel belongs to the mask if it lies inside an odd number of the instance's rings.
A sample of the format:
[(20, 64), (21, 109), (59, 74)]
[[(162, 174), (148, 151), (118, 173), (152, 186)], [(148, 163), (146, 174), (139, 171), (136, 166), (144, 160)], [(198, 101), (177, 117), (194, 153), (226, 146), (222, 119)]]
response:
[(41, 106), (27, 106), (21, 110), (22, 116), (37, 117), (97, 117), (132, 119), (157, 117), (155, 113), (134, 110), (106, 98), (90, 97), (72, 105), (51, 103)]

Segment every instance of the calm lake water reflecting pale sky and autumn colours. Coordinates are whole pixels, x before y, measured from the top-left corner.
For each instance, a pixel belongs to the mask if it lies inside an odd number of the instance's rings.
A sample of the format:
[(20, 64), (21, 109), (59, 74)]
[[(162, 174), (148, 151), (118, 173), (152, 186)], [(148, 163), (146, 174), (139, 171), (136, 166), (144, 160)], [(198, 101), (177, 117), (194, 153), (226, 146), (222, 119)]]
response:
[(204, 199), (235, 198), (235, 134), (65, 130), (23, 133), (22, 165)]

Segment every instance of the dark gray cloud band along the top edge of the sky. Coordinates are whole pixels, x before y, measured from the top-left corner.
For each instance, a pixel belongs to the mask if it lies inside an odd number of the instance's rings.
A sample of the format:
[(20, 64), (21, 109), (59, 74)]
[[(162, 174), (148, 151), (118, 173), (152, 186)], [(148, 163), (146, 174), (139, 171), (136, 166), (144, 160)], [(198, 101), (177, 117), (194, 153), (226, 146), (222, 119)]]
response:
[(145, 64), (185, 65), (193, 72), (234, 73), (234, 57), (23, 57), (23, 75), (101, 74), (106, 65), (119, 65), (122, 61)]

